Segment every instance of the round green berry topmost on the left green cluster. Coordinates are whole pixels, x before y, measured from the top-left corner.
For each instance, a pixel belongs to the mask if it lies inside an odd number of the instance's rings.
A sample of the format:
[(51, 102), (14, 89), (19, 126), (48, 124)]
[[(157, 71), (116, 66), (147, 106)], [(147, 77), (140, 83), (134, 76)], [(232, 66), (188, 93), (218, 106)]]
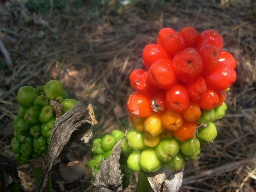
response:
[(50, 80), (44, 86), (44, 95), (53, 100), (58, 96), (61, 96), (63, 92), (63, 84), (58, 80)]

